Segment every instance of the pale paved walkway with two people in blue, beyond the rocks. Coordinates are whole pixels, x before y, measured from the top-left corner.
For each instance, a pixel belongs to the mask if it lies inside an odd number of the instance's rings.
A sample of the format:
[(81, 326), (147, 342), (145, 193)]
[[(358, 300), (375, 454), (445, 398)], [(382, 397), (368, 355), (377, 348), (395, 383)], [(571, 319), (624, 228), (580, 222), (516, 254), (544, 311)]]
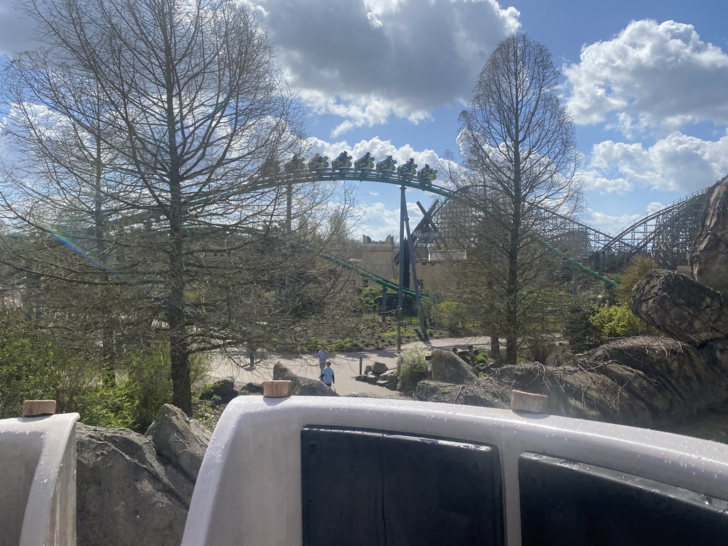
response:
[[(468, 345), (477, 345), (479, 347), (488, 346), (490, 343), (487, 337), (471, 337), (471, 338), (446, 338), (433, 339), (426, 343), (427, 346), (435, 349), (467, 349)], [(410, 344), (402, 346), (403, 349), (409, 347)], [(489, 347), (488, 347), (489, 348)], [(397, 367), (397, 349), (381, 349), (378, 351), (364, 351), (351, 353), (332, 353), (329, 357), (331, 367), (336, 373), (336, 383), (334, 387), (339, 395), (350, 395), (354, 392), (371, 392), (379, 395), (392, 393), (391, 390), (384, 387), (377, 387), (365, 383), (365, 381), (356, 381), (355, 377), (359, 375), (359, 358), (362, 358), (362, 371), (367, 365), (374, 362), (381, 362), (387, 365), (390, 370)], [(310, 355), (256, 355), (256, 363), (250, 365), (248, 354), (240, 352), (232, 357), (218, 355), (213, 359), (213, 365), (210, 371), (210, 379), (216, 381), (224, 377), (232, 377), (234, 381), (239, 383), (261, 383), (266, 379), (273, 379), (273, 366), (280, 362), (285, 365), (293, 373), (299, 376), (308, 377), (309, 379), (318, 379), (319, 365), (315, 353)]]

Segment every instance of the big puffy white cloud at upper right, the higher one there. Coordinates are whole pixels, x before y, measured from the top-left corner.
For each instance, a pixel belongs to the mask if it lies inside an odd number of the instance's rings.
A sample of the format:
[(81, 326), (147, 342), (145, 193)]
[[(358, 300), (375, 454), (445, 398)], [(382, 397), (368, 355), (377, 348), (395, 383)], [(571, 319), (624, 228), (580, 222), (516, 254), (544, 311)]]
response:
[(579, 124), (607, 122), (628, 138), (664, 136), (687, 124), (728, 124), (728, 55), (692, 25), (630, 23), (609, 41), (582, 47), (563, 73)]

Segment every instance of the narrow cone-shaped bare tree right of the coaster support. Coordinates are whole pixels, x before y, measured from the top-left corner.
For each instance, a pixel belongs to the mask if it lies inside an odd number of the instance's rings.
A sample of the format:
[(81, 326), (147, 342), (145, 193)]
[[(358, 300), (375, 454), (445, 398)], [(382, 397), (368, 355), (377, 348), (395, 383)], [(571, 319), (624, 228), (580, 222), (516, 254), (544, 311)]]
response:
[[(558, 94), (558, 71), (545, 46), (510, 36), (478, 78), (460, 116), (467, 176), (459, 186), (475, 212), (451, 217), (467, 248), (468, 277), (491, 307), (491, 328), (506, 339), (506, 361), (533, 323), (533, 302), (553, 258), (547, 246), (581, 201), (574, 127)], [(479, 282), (474, 282), (479, 279)]]

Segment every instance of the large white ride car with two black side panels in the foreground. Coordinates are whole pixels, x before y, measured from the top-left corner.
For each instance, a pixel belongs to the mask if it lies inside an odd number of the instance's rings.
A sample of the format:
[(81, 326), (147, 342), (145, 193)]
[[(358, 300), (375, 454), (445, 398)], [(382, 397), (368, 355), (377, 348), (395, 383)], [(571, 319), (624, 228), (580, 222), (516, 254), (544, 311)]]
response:
[(464, 405), (237, 397), (182, 545), (724, 546), (727, 499), (728, 446), (708, 440)]

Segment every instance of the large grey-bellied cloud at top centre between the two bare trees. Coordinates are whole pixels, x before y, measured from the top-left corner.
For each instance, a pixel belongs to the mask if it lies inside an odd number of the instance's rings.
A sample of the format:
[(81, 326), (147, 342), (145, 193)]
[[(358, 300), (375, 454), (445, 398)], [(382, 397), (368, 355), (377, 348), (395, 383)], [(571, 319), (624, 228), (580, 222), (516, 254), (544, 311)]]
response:
[(467, 101), (488, 55), (520, 26), (518, 10), (496, 0), (248, 3), (265, 14), (306, 106), (344, 118), (333, 138)]

